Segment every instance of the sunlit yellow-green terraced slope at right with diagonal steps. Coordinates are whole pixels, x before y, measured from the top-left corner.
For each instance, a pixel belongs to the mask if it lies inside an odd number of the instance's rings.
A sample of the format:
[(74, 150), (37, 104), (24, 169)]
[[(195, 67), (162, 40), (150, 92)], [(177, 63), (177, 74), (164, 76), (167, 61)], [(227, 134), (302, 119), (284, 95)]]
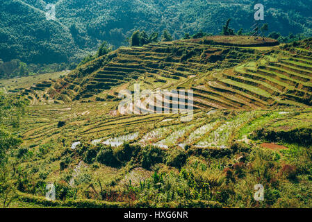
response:
[(312, 103), (312, 57), (274, 51), (256, 62), (216, 72), (192, 86), (195, 104), (206, 108), (254, 109)]

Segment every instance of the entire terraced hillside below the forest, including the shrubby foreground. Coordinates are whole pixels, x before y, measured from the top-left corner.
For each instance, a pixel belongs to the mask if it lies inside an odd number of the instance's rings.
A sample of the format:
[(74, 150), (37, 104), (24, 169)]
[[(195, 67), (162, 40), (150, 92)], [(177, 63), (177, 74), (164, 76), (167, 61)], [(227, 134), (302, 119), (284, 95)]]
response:
[[(121, 48), (25, 89), (32, 103), (14, 129), (23, 144), (9, 157), (16, 204), (311, 207), (312, 40), (263, 46), (249, 37), (241, 46), (223, 38)], [(176, 89), (192, 89), (192, 119), (121, 114), (117, 92), (135, 83), (175, 90), (135, 110), (158, 101), (173, 111)], [(44, 198), (49, 183), (55, 201)], [(261, 203), (256, 184), (265, 187)]]

